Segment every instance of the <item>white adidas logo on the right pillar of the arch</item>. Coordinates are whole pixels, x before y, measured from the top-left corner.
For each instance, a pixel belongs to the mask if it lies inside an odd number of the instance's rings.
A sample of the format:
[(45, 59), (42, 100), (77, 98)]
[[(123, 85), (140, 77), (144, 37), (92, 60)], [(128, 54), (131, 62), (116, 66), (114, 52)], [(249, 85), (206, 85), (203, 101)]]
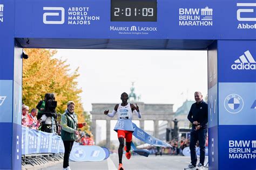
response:
[(256, 69), (256, 62), (248, 50), (234, 62), (232, 69)]

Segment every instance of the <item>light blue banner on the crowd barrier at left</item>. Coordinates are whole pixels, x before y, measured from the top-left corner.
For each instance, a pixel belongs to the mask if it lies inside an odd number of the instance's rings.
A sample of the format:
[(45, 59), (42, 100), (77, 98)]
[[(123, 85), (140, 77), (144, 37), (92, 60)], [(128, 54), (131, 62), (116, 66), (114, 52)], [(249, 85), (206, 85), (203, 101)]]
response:
[(22, 155), (35, 153), (64, 153), (60, 136), (22, 126)]

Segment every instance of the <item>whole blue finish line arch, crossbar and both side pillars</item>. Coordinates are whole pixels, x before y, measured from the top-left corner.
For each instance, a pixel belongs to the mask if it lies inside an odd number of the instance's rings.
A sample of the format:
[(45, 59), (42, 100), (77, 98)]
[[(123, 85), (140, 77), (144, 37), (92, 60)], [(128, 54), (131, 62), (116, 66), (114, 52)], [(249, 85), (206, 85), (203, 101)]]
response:
[(254, 10), (244, 0), (2, 0), (0, 169), (21, 169), (23, 48), (207, 49), (210, 169), (255, 168)]

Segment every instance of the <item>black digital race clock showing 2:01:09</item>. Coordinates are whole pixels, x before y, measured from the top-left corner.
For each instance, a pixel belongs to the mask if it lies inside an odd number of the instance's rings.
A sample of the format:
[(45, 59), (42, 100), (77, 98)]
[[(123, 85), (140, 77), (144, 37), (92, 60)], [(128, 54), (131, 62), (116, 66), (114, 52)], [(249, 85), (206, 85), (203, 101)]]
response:
[(157, 22), (157, 0), (111, 0), (111, 22)]

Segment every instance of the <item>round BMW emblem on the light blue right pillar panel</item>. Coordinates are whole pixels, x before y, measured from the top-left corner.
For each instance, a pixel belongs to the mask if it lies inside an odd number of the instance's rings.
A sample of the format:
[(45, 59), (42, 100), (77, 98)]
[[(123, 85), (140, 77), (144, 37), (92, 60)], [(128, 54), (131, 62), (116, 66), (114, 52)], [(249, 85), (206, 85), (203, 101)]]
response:
[(231, 114), (237, 114), (244, 107), (244, 101), (241, 96), (231, 94), (225, 98), (224, 107)]

